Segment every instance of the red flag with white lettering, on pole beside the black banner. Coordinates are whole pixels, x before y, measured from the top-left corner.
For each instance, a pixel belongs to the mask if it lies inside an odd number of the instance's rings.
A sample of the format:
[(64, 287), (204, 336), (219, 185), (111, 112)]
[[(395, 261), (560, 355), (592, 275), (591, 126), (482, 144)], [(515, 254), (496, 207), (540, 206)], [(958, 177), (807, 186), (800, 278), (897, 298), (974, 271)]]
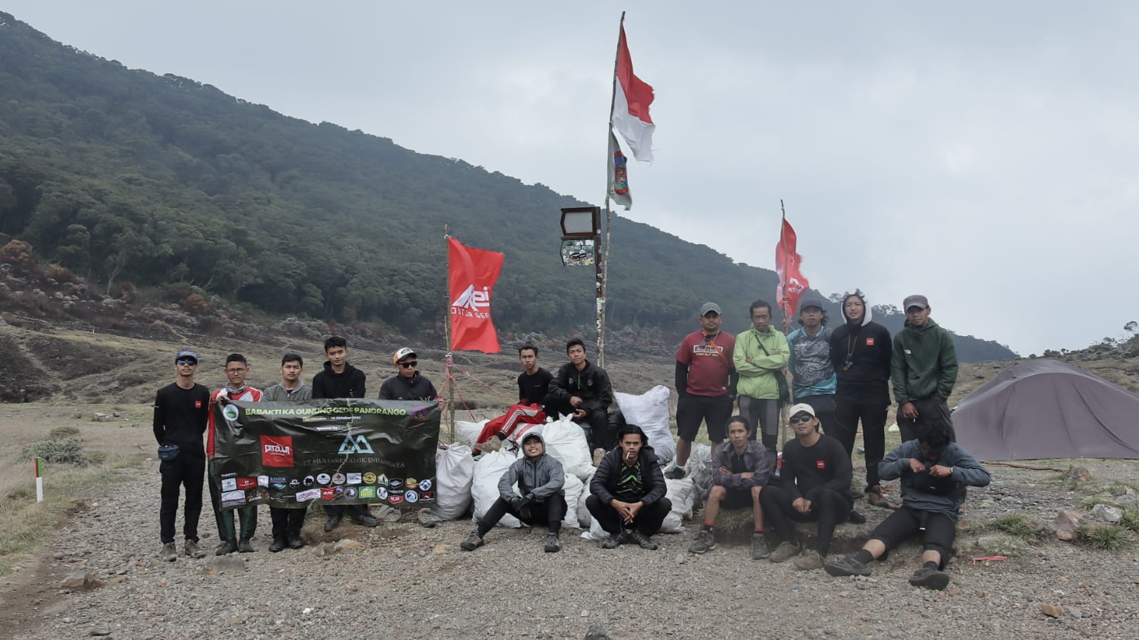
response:
[(451, 348), (498, 353), (498, 334), (491, 322), (491, 296), (502, 271), (502, 254), (466, 247), (446, 239), (451, 300)]

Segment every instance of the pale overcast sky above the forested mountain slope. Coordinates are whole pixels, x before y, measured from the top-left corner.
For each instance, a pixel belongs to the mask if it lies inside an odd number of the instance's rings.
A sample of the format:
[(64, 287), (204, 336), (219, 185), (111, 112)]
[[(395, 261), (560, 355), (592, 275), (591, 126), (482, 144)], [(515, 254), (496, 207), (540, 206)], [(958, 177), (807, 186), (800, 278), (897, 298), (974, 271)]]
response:
[[(621, 8), (546, 5), (0, 0), (131, 68), (601, 204)], [(657, 124), (625, 215), (770, 269), (782, 198), (825, 294), (923, 293), (1024, 355), (1123, 335), (1139, 5), (932, 5), (625, 2)]]

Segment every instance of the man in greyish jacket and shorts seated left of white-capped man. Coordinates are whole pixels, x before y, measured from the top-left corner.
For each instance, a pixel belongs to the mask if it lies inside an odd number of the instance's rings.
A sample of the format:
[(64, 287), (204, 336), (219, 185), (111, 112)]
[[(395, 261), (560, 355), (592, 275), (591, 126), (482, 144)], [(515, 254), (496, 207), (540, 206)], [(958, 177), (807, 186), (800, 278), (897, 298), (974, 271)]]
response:
[(712, 487), (704, 502), (704, 528), (696, 534), (696, 542), (688, 548), (693, 553), (704, 553), (715, 549), (715, 519), (720, 507), (739, 509), (751, 504), (755, 515), (755, 531), (752, 533), (752, 559), (768, 557), (768, 543), (763, 538), (763, 509), (760, 508), (760, 492), (771, 477), (768, 451), (762, 444), (748, 440), (747, 419), (735, 416), (728, 420), (728, 442), (720, 444), (712, 460)]

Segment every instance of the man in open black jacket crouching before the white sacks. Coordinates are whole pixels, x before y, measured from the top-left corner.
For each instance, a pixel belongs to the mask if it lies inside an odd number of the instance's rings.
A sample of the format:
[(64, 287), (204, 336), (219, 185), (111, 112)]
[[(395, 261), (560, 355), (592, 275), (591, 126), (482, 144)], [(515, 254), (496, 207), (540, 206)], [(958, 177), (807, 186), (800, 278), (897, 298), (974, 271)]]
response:
[(621, 427), (617, 442), (589, 483), (591, 495), (585, 508), (609, 534), (603, 549), (616, 549), (632, 540), (641, 549), (655, 550), (652, 536), (672, 510), (672, 502), (664, 497), (667, 485), (661, 462), (637, 425)]

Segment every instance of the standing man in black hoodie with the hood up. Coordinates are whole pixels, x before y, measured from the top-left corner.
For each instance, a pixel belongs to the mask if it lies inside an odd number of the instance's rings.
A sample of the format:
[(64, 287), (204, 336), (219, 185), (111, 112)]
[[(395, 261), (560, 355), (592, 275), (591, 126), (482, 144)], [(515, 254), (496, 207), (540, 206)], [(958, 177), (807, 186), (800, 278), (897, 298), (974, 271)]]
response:
[(843, 443), (850, 456), (862, 422), (866, 450), (867, 501), (890, 507), (878, 478), (878, 462), (886, 454), (886, 410), (890, 408), (890, 331), (874, 322), (866, 294), (859, 289), (843, 295), (842, 326), (830, 334), (830, 363), (837, 377), (834, 428), (827, 433)]

